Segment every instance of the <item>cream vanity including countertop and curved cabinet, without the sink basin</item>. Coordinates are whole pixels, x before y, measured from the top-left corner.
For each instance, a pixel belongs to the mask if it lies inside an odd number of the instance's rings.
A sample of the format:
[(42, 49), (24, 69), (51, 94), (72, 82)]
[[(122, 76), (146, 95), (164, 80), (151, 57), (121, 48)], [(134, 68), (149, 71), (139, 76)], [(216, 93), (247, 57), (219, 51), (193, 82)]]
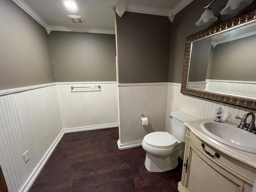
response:
[(178, 191), (251, 192), (256, 179), (256, 154), (238, 150), (208, 136), (200, 128), (208, 121), (212, 119), (184, 123), (188, 131)]

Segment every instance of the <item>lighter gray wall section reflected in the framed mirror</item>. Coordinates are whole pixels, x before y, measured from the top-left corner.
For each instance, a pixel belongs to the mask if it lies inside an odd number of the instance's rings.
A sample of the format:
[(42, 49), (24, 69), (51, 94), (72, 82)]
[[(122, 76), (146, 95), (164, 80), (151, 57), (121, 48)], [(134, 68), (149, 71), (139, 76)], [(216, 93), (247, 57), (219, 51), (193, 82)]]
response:
[(218, 44), (210, 79), (256, 81), (256, 35)]

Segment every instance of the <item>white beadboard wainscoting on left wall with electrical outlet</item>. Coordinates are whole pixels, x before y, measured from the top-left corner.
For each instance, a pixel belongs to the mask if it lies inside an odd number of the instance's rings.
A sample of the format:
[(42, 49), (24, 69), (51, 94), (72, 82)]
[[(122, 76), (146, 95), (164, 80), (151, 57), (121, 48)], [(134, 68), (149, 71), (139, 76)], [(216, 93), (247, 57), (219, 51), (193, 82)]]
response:
[[(62, 137), (55, 84), (0, 91), (0, 164), (9, 192), (26, 192)], [(28, 150), (29, 160), (22, 158)]]

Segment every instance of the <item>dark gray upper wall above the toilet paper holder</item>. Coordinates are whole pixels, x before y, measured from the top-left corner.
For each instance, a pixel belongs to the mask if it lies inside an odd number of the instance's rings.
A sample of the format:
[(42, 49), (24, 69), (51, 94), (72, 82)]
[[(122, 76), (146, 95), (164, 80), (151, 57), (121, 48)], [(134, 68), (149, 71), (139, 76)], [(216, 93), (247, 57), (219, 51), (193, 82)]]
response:
[(168, 17), (116, 14), (119, 83), (167, 82), (171, 22)]

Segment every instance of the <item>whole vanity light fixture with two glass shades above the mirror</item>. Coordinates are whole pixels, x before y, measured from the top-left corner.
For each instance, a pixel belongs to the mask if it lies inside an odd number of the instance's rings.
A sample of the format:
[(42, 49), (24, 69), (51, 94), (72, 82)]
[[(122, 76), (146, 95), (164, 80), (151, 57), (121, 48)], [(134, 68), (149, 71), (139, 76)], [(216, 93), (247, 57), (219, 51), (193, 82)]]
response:
[[(215, 1), (216, 0), (213, 0), (208, 6), (204, 7), (205, 11), (202, 13), (200, 19), (196, 22), (196, 26), (213, 24), (216, 20), (218, 20), (218, 18), (214, 16), (210, 8), (210, 6)], [(236, 10), (242, 10), (243, 8), (246, 8), (248, 5), (250, 5), (252, 2), (253, 0), (228, 0), (228, 3), (224, 7), (224, 9), (222, 9), (220, 14), (226, 15), (231, 14)]]

